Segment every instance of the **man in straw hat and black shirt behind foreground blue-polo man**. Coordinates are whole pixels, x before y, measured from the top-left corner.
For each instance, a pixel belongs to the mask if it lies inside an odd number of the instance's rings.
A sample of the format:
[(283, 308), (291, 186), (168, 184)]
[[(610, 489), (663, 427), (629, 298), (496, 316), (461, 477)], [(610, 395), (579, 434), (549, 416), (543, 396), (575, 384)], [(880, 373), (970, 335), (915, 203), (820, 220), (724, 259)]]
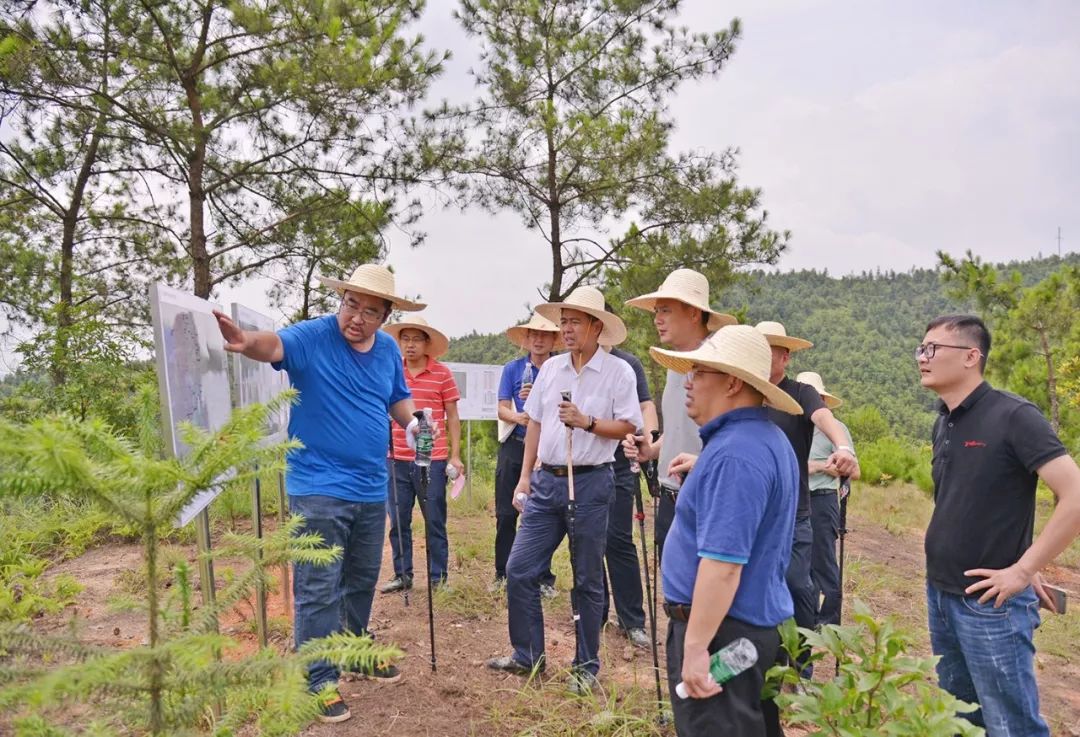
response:
[[(818, 619), (816, 590), (810, 576), (813, 528), (810, 523), (810, 473), (808, 461), (816, 427), (833, 443), (832, 455), (825, 465), (836, 469), (839, 475), (855, 475), (859, 461), (855, 452), (848, 444), (848, 434), (833, 411), (825, 406), (821, 394), (809, 384), (787, 377), (787, 362), (793, 352), (812, 348), (813, 344), (802, 338), (787, 335), (779, 322), (759, 322), (757, 330), (762, 333), (772, 349), (772, 375), (769, 380), (783, 389), (802, 407), (801, 415), (791, 415), (779, 410), (769, 410), (769, 419), (780, 426), (795, 450), (799, 463), (799, 504), (795, 512), (795, 540), (792, 545), (792, 562), (787, 567), (787, 588), (795, 602), (795, 622), (799, 627), (812, 629)], [(812, 670), (806, 667), (804, 675), (810, 678)]]

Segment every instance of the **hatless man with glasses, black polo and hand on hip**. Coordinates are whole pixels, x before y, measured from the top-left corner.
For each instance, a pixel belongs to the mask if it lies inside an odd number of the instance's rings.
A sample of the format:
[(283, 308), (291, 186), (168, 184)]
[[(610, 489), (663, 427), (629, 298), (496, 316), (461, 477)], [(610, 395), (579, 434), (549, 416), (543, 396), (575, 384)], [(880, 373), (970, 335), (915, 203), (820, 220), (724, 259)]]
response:
[[(1039, 571), (1080, 534), (1080, 469), (1042, 413), (983, 380), (990, 334), (972, 316), (927, 325), (915, 350), (934, 423), (934, 513), (927, 530), (930, 642), (943, 688), (981, 710), (989, 737), (1048, 736), (1039, 716), (1032, 634)], [(1032, 542), (1035, 490), (1057, 498)]]

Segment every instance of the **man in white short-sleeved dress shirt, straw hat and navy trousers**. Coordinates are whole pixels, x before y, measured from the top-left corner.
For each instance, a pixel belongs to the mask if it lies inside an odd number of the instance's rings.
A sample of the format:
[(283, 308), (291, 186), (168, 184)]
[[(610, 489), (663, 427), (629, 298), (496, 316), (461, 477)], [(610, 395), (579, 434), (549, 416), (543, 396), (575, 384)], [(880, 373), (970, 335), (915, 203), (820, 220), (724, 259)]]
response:
[[(522, 523), (507, 563), (507, 600), (513, 654), (489, 668), (529, 674), (544, 667), (540, 577), (567, 534), (567, 427), (572, 430), (575, 485), (572, 595), (577, 653), (570, 689), (588, 693), (599, 671), (600, 616), (604, 612), (604, 549), (608, 506), (615, 493), (615, 451), (620, 439), (643, 425), (634, 372), (625, 361), (599, 349), (626, 337), (622, 321), (604, 310), (604, 295), (580, 286), (565, 302), (537, 307), (558, 323), (566, 352), (540, 367), (525, 403), (529, 416), (522, 475), (514, 506)], [(562, 392), (570, 392), (570, 401)], [(532, 471), (539, 459), (540, 469)]]

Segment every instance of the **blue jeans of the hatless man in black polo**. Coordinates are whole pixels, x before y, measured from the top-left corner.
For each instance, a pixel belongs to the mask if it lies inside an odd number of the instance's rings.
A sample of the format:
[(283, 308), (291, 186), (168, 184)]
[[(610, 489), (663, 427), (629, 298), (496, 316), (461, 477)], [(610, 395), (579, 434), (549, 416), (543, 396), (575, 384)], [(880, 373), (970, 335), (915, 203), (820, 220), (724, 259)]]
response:
[(1028, 587), (1000, 608), (978, 597), (947, 593), (927, 584), (930, 645), (937, 681), (958, 699), (981, 705), (963, 714), (988, 737), (1050, 737), (1039, 716), (1035, 643), (1039, 599)]

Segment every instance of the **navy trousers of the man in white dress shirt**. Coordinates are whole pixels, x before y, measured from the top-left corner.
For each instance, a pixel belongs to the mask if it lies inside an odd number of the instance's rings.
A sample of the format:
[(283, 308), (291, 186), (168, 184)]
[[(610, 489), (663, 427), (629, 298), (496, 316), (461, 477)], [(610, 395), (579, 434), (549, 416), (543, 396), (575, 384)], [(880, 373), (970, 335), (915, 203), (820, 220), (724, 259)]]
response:
[[(600, 614), (604, 611), (604, 548), (615, 475), (610, 467), (575, 474), (573, 601), (577, 653), (573, 666), (599, 671)], [(544, 655), (540, 580), (567, 535), (569, 494), (565, 477), (534, 471), (531, 494), (507, 561), (507, 604), (514, 659), (535, 666)]]

